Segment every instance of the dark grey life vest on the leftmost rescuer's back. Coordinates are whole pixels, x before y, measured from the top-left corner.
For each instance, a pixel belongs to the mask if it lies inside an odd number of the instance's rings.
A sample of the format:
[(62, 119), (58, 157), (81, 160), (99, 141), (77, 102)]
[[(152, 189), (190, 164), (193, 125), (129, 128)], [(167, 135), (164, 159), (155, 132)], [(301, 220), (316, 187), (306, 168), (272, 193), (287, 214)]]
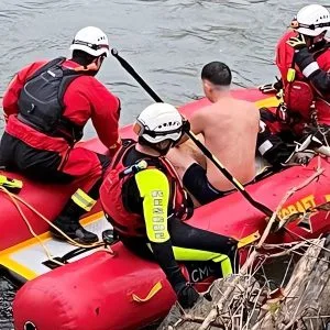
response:
[(29, 78), (19, 97), (18, 119), (51, 136), (64, 138), (74, 144), (82, 138), (82, 128), (63, 117), (64, 94), (81, 74), (64, 68), (65, 57), (55, 58)]

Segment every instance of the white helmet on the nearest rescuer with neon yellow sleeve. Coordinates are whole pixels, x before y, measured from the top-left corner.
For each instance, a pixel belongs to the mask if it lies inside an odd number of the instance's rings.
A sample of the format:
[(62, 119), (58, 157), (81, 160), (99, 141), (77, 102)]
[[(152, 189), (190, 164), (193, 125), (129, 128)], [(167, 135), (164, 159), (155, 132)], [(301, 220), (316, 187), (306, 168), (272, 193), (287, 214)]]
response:
[(138, 117), (134, 132), (151, 143), (167, 139), (176, 142), (182, 138), (183, 118), (177, 109), (168, 103), (153, 103)]

